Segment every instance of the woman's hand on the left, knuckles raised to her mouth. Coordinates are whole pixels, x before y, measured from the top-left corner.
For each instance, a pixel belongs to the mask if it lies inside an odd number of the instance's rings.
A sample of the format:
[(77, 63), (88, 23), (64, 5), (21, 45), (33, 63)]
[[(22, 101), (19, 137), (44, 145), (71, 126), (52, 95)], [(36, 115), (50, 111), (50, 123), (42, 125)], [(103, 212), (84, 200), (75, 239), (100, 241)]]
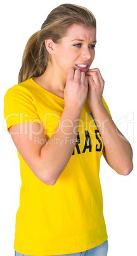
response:
[(65, 105), (81, 108), (88, 95), (88, 77), (79, 69), (70, 68), (64, 90)]

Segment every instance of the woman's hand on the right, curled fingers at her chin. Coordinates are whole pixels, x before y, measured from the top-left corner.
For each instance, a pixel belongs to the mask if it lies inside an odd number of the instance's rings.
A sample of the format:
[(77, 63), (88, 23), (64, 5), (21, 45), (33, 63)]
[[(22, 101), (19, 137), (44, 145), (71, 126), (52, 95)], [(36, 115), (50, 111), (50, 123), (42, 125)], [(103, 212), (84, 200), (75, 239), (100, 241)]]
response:
[(102, 94), (104, 88), (104, 80), (98, 68), (89, 69), (86, 72), (88, 78), (88, 103), (89, 107), (97, 108), (98, 104), (102, 105)]

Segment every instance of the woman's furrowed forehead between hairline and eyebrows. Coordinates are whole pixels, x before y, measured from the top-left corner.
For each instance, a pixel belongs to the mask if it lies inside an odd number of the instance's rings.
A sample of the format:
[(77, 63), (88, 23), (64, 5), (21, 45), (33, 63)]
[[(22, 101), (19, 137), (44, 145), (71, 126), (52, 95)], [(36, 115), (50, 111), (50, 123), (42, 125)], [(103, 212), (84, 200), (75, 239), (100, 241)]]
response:
[(69, 27), (65, 36), (74, 39), (84, 39), (85, 37), (89, 39), (96, 39), (96, 29), (95, 27), (86, 27), (85, 25), (74, 24)]

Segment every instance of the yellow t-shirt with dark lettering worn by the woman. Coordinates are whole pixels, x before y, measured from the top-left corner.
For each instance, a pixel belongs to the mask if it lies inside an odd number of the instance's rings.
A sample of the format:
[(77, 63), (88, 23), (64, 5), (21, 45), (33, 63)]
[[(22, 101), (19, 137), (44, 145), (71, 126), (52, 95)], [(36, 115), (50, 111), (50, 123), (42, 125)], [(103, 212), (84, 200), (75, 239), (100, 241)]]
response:
[[(109, 112), (104, 99), (103, 104)], [(63, 108), (62, 98), (43, 89), (32, 78), (11, 87), (4, 97), (8, 128), (38, 122), (48, 138), (55, 132)], [(42, 143), (37, 136), (36, 143)], [(59, 154), (60, 141), (58, 145)], [(16, 213), (17, 252), (62, 255), (89, 250), (107, 240), (99, 178), (102, 153), (103, 142), (87, 102), (82, 108), (74, 152), (55, 185), (42, 183), (18, 153), (22, 187)]]

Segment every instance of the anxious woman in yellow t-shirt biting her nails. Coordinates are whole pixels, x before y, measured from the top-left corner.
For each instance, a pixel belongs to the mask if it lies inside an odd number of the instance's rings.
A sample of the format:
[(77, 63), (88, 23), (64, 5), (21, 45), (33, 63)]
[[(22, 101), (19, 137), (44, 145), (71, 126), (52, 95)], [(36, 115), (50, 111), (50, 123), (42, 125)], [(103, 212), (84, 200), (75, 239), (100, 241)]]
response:
[(29, 39), (18, 85), (4, 97), (22, 177), (15, 255), (107, 255), (100, 158), (127, 175), (133, 153), (103, 99), (100, 70), (89, 69), (95, 45), (93, 13), (58, 6)]

